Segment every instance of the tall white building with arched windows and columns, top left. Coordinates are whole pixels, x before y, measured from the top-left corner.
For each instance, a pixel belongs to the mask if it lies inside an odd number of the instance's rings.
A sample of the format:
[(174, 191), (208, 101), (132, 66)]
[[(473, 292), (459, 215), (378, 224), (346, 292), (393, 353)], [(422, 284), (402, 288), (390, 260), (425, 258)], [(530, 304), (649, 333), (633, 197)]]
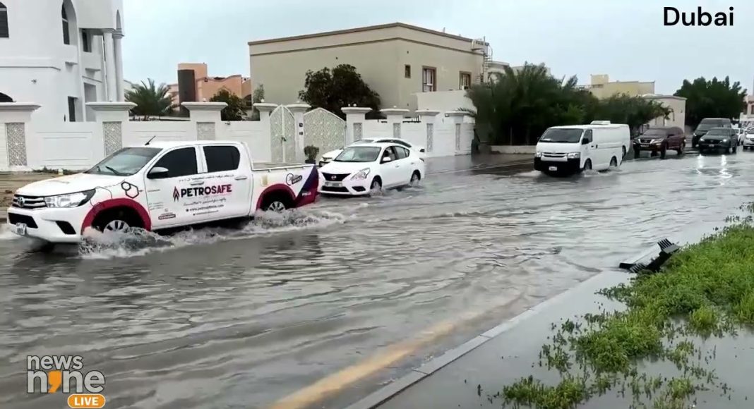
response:
[(123, 0), (0, 0), (0, 102), (93, 121), (86, 102), (124, 98), (121, 38)]

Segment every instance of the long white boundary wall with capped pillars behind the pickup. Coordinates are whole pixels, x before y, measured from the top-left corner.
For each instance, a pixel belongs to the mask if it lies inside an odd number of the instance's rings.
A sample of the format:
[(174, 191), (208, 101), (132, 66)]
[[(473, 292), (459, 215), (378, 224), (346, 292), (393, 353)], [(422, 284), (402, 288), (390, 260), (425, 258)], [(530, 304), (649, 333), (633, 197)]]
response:
[[(155, 141), (192, 141), (224, 139), (244, 142), (253, 160), (271, 162), (272, 143), (280, 138), (272, 132), (270, 112), (274, 104), (257, 104), (260, 121), (220, 121), (222, 102), (191, 102), (189, 121), (129, 121), (130, 102), (93, 102), (87, 108), (95, 111), (95, 122), (35, 121), (32, 103), (0, 103), (0, 171), (35, 169), (87, 169), (118, 148), (143, 145)], [(300, 105), (300, 104), (299, 104)], [(355, 110), (355, 111), (354, 111)], [(474, 124), (464, 113), (417, 111), (420, 120), (404, 119), (405, 110), (385, 109), (388, 120), (366, 121), (368, 108), (343, 108), (347, 114), (344, 145), (363, 138), (399, 138), (426, 149), (428, 157), (469, 154)], [(400, 111), (400, 112), (394, 112)], [(303, 128), (301, 115), (296, 115), (296, 130)], [(407, 122), (403, 122), (407, 121)], [(283, 134), (296, 139), (295, 135)], [(298, 148), (298, 146), (296, 147)], [(303, 150), (303, 147), (301, 147)], [(320, 151), (320, 154), (323, 154)]]

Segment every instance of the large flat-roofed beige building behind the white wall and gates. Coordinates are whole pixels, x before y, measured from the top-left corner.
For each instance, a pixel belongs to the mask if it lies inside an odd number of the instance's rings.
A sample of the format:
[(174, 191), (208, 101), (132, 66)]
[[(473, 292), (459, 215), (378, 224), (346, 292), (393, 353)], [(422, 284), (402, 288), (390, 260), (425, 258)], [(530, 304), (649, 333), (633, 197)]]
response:
[(270, 102), (296, 102), (308, 70), (351, 64), (382, 108), (411, 110), (415, 93), (468, 87), (492, 62), (484, 40), (403, 23), (250, 41), (249, 53), (251, 80)]

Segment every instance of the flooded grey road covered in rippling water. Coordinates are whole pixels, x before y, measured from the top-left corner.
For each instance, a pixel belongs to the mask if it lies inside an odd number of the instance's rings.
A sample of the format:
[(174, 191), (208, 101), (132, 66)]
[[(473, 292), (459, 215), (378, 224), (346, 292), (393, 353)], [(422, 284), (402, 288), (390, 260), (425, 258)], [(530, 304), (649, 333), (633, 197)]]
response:
[[(80, 354), (106, 375), (107, 407), (265, 407), (403, 343), (326, 399), (339, 407), (670, 233), (724, 221), (752, 200), (752, 175), (748, 152), (571, 179), (447, 172), (241, 231), (51, 255), (2, 233), (0, 407), (65, 406), (26, 394), (27, 355)], [(438, 322), (451, 325), (406, 344)]]

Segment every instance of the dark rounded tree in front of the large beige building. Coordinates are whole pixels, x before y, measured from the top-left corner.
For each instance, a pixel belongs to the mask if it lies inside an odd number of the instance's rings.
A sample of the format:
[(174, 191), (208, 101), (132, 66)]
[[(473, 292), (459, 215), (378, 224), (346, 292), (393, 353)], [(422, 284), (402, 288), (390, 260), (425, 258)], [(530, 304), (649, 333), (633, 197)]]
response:
[(340, 118), (345, 118), (340, 108), (356, 104), (372, 108), (372, 111), (366, 114), (366, 118), (382, 117), (379, 113), (379, 94), (363, 81), (354, 66), (341, 64), (332, 70), (309, 70), (306, 72), (304, 87), (305, 89), (299, 92), (299, 99), (313, 108), (324, 108)]

